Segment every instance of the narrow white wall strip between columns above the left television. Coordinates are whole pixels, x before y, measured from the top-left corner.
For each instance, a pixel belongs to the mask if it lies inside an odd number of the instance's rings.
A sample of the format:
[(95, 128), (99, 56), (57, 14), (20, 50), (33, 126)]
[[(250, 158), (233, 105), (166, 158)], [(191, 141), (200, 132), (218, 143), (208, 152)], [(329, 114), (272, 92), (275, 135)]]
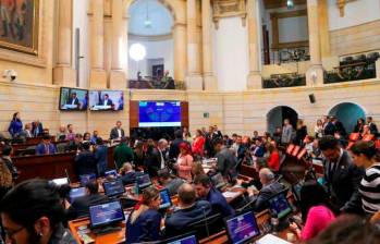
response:
[(84, 59), (81, 59), (79, 68), (79, 86), (87, 88), (88, 85), (88, 16), (87, 16), (88, 1), (84, 0), (74, 0), (73, 1), (73, 54), (72, 63), (73, 68), (75, 66), (75, 28), (79, 28), (79, 56), (83, 56)]

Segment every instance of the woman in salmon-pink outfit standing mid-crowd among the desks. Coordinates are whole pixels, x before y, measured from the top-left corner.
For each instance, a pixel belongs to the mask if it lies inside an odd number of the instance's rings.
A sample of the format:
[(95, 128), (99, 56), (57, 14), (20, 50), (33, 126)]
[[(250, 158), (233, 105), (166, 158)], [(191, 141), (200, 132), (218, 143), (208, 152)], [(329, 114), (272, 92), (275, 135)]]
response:
[(180, 178), (192, 181), (193, 156), (187, 143), (180, 144), (180, 156), (174, 164)]

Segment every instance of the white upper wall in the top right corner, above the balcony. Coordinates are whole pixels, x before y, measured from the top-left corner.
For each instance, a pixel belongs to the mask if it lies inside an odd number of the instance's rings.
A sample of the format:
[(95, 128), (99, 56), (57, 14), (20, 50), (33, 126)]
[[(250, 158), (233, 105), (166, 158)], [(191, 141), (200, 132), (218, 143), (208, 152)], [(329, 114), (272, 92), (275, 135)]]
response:
[(360, 25), (380, 19), (379, 0), (356, 0), (346, 3), (344, 16), (340, 16), (335, 0), (329, 0), (330, 30)]

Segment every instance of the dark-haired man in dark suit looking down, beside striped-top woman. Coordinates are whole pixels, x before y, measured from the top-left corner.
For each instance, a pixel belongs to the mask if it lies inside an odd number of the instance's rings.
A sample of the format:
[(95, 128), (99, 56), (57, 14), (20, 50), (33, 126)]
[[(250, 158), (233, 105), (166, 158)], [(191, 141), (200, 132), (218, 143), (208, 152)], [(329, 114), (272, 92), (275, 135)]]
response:
[(348, 155), (339, 146), (333, 136), (324, 136), (319, 141), (322, 151), (324, 182), (332, 203), (345, 212), (361, 212), (361, 200), (358, 192), (364, 170), (357, 168)]

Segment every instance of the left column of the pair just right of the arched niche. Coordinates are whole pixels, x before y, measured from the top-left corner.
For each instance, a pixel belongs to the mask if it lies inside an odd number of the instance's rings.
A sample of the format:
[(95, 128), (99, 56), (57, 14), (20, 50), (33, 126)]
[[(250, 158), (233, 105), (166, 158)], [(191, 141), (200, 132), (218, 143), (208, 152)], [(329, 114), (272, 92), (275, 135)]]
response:
[(199, 44), (196, 23), (196, 0), (187, 0), (187, 89), (203, 89), (199, 71)]

